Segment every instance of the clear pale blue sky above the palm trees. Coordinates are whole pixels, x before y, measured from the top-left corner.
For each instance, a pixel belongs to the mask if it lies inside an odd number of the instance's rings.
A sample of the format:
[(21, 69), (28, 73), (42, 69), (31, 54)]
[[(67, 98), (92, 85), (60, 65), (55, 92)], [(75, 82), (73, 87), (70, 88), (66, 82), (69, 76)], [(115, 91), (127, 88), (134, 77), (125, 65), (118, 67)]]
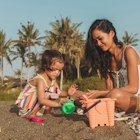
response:
[[(116, 28), (121, 40), (125, 31), (138, 33), (140, 39), (140, 0), (0, 0), (0, 31), (6, 33), (6, 39), (17, 39), (21, 23), (35, 24), (40, 35), (51, 30), (50, 22), (69, 17), (72, 23), (82, 23), (79, 31), (85, 32), (85, 38), (92, 22), (96, 19), (109, 19)], [(140, 53), (140, 42), (135, 47)], [(4, 75), (13, 76), (20, 68), (20, 58), (13, 67), (5, 61)], [(26, 72), (25, 72), (26, 73)]]

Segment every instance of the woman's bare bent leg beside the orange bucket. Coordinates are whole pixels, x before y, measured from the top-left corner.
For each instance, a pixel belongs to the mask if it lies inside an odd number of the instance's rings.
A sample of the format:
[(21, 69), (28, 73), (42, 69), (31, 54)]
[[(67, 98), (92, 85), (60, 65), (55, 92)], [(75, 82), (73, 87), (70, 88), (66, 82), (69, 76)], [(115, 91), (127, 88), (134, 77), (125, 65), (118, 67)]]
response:
[(115, 106), (126, 113), (136, 112), (138, 110), (138, 97), (128, 92), (113, 89), (107, 97), (116, 98)]

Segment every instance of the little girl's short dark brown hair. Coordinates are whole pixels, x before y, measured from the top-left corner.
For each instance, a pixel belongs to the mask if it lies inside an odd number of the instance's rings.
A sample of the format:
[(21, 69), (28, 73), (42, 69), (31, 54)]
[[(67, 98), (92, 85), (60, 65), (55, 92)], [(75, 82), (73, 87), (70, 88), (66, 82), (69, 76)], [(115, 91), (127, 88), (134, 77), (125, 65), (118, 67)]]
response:
[(40, 71), (45, 71), (46, 69), (49, 69), (51, 64), (55, 61), (64, 63), (63, 54), (61, 54), (57, 50), (45, 50), (42, 54)]

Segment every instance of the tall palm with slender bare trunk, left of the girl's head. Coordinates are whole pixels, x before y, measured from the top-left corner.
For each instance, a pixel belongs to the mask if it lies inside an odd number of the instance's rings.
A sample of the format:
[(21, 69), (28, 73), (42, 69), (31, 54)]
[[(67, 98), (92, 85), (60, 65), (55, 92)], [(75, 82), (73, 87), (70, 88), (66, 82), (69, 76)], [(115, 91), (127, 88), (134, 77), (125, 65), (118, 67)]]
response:
[(29, 68), (30, 68), (30, 52), (31, 46), (40, 45), (39, 30), (35, 29), (35, 26), (31, 22), (27, 22), (27, 25), (21, 24), (21, 30), (18, 30), (18, 35), (21, 41), (21, 45), (28, 48), (28, 81), (29, 81)]

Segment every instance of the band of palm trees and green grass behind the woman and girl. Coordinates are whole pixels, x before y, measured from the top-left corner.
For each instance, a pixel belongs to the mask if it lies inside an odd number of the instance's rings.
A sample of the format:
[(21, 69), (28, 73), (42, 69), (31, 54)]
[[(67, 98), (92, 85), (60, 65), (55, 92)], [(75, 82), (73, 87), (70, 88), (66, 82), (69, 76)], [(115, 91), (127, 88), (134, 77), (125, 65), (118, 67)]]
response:
[[(32, 76), (37, 74), (42, 51), (46, 49), (56, 49), (65, 57), (65, 68), (60, 75), (60, 88), (67, 90), (75, 83), (81, 91), (105, 89), (104, 79), (100, 79), (100, 71), (91, 69), (85, 60), (86, 40), (85, 33), (79, 30), (81, 24), (73, 23), (69, 17), (62, 17), (50, 22), (52, 29), (45, 29), (45, 35), (40, 35), (35, 24), (28, 21), (27, 24), (21, 23), (17, 32), (18, 38), (8, 40), (6, 33), (0, 31), (0, 101), (16, 100), (21, 91), (20, 87), (29, 80), (30, 68), (34, 69)], [(137, 46), (139, 39), (136, 37), (137, 34), (128, 34), (126, 31), (122, 42)], [(16, 59), (19, 61), (19, 69), (15, 71), (14, 77), (7, 77), (6, 81), (3, 75), (4, 62), (7, 60), (13, 66), (12, 63)], [(27, 70), (27, 76), (24, 75), (23, 69)], [(28, 78), (25, 79), (24, 76)], [(12, 88), (12, 82), (13, 85), (18, 85), (18, 88)]]

